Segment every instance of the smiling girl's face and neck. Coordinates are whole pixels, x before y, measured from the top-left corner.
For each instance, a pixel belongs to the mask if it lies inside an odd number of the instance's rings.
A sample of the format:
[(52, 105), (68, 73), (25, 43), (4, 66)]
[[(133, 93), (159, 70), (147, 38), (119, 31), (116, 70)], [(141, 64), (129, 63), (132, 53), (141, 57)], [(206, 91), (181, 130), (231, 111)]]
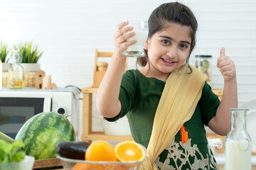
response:
[[(171, 23), (146, 41), (150, 64), (149, 76), (169, 76), (183, 66), (191, 47), (190, 28)], [(149, 67), (148, 64), (146, 67)], [(159, 78), (160, 78), (159, 77)]]

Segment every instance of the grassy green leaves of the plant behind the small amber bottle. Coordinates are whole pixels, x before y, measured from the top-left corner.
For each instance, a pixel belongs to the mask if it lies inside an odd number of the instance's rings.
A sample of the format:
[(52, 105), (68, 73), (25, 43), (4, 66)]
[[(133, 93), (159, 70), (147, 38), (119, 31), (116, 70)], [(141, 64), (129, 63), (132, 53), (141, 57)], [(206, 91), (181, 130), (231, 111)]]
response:
[(43, 52), (38, 50), (38, 45), (33, 45), (32, 42), (19, 42), (14, 45), (14, 50), (18, 50), (21, 55), (21, 63), (37, 63)]

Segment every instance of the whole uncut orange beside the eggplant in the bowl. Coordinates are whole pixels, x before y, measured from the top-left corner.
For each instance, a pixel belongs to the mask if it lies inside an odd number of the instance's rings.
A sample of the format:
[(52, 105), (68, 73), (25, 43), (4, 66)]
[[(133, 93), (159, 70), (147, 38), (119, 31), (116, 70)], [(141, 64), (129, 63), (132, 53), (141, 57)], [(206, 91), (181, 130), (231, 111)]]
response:
[(86, 161), (116, 162), (114, 148), (105, 141), (92, 142), (85, 152)]

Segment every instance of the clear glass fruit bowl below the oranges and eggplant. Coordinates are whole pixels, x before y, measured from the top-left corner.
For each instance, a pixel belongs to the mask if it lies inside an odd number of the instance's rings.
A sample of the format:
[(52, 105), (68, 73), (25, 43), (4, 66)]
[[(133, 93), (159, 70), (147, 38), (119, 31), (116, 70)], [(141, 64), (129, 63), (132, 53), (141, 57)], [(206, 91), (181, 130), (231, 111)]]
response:
[(90, 162), (57, 156), (65, 170), (139, 170), (143, 161), (138, 162)]

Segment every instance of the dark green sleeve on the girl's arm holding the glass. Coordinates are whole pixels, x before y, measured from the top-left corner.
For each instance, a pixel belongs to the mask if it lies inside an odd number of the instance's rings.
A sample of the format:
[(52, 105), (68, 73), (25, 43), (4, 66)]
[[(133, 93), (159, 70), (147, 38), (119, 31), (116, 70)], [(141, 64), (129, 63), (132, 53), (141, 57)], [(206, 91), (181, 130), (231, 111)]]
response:
[(132, 70), (127, 70), (122, 76), (121, 87), (119, 91), (119, 101), (121, 102), (121, 111), (120, 113), (114, 118), (105, 118), (107, 121), (113, 122), (118, 120), (119, 118), (124, 117), (134, 103), (135, 97), (135, 77)]

